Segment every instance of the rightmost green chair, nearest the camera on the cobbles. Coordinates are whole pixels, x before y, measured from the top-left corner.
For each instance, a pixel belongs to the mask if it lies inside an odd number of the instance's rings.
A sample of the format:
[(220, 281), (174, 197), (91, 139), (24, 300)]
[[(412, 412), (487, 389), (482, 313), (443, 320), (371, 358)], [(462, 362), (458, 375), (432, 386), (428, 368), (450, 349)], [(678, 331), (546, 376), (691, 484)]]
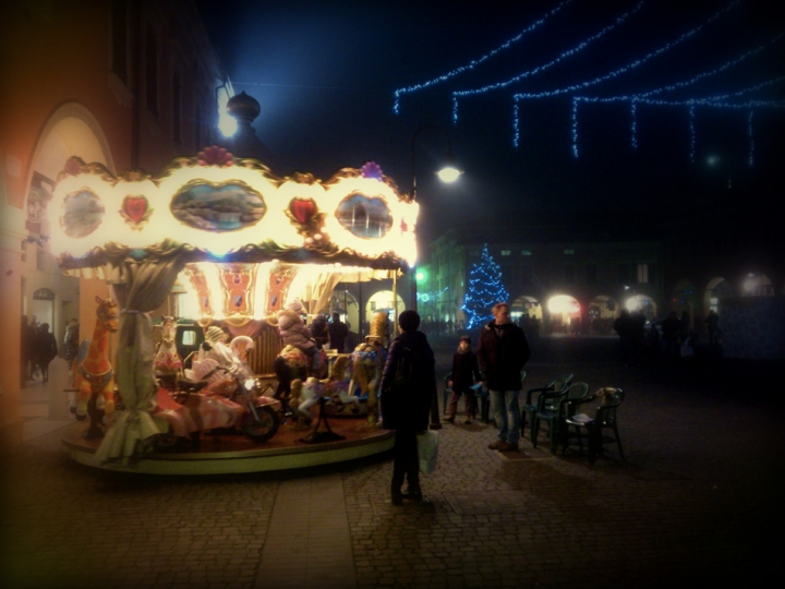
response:
[[(621, 458), (621, 460), (625, 459), (616, 419), (618, 406), (621, 405), (624, 398), (625, 392), (620, 388), (601, 388), (591, 397), (576, 401), (575, 407), (571, 409), (572, 416), (565, 419), (565, 426), (567, 429), (569, 429), (570, 425), (573, 426), (576, 433), (578, 434), (577, 437), (580, 452), (583, 452), (581, 430), (587, 430), (589, 435), (589, 462), (592, 465), (596, 460), (597, 455), (604, 455), (604, 442), (616, 442), (616, 445), (619, 448), (619, 458)], [(577, 408), (582, 405), (592, 405), (596, 408), (594, 418), (592, 418), (589, 413), (576, 412)], [(603, 435), (603, 430), (608, 428), (613, 429), (615, 437)], [(567, 444), (569, 443), (568, 436), (565, 435), (563, 440), (564, 449), (566, 449)]]

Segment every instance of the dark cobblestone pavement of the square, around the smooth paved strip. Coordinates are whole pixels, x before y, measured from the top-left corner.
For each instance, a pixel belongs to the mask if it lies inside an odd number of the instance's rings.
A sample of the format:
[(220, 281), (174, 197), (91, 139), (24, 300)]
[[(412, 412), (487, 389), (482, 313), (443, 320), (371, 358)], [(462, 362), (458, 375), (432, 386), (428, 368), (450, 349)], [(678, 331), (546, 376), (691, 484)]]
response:
[[(390, 504), (389, 459), (326, 469), (342, 477), (352, 586), (771, 585), (785, 520), (771, 366), (629, 368), (607, 342), (587, 344), (593, 357), (552, 345), (524, 388), (565, 372), (625, 388), (627, 460), (613, 450), (591, 467), (528, 440), (502, 455), (487, 449), (494, 429), (474, 423), (440, 430), (421, 504)], [(259, 563), (281, 482), (325, 473), (98, 471), (70, 461), (57, 432), (2, 459), (0, 578), (14, 588), (268, 586)], [(295, 554), (291, 566), (303, 566)]]

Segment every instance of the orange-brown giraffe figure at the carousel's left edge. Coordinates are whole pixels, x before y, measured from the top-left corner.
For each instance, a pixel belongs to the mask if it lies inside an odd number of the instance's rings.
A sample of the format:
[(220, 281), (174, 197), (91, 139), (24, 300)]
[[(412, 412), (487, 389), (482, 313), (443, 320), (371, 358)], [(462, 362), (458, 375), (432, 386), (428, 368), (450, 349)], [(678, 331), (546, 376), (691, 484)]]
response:
[[(76, 366), (74, 388), (78, 389), (76, 419), (83, 421), (89, 413), (90, 425), (85, 437), (102, 437), (100, 420), (114, 412), (114, 371), (109, 362), (107, 348), (109, 334), (118, 330), (117, 303), (111, 299), (96, 297), (96, 326), (85, 359)], [(102, 400), (104, 409), (98, 408)]]

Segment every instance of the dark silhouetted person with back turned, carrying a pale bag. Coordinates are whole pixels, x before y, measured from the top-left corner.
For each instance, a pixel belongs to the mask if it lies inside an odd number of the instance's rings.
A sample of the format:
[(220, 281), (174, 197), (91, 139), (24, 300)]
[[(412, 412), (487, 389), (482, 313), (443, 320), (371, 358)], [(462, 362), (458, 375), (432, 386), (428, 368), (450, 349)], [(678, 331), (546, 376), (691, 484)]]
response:
[[(398, 317), (398, 324), (401, 334), (392, 341), (382, 373), (384, 424), (396, 430), (390, 494), (392, 505), (403, 502), (403, 478), (409, 483), (408, 497), (422, 500), (416, 434), (427, 429), (431, 399), (436, 388), (434, 353), (425, 334), (418, 330), (420, 315), (416, 311), (403, 311)], [(395, 384), (399, 362), (408, 362), (412, 368), (403, 388)]]

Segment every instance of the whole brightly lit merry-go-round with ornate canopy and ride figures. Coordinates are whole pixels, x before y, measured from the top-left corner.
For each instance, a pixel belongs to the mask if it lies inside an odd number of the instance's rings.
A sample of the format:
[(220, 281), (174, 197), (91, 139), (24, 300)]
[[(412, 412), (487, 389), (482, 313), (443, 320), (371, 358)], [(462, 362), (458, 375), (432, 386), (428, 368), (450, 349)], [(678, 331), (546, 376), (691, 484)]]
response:
[[(337, 285), (386, 279), (395, 293), (414, 264), (418, 204), (376, 164), (327, 181), (278, 178), (209, 147), (159, 176), (118, 178), (74, 157), (52, 206), (60, 266), (110, 292), (95, 298), (93, 337), (71, 370), (76, 421), (61, 440), (74, 460), (202, 474), (392, 447), (376, 385), (397, 317), (374, 315), (350, 353), (314, 337)], [(188, 358), (174, 345), (177, 317), (154, 321), (173, 289), (200, 329)]]

